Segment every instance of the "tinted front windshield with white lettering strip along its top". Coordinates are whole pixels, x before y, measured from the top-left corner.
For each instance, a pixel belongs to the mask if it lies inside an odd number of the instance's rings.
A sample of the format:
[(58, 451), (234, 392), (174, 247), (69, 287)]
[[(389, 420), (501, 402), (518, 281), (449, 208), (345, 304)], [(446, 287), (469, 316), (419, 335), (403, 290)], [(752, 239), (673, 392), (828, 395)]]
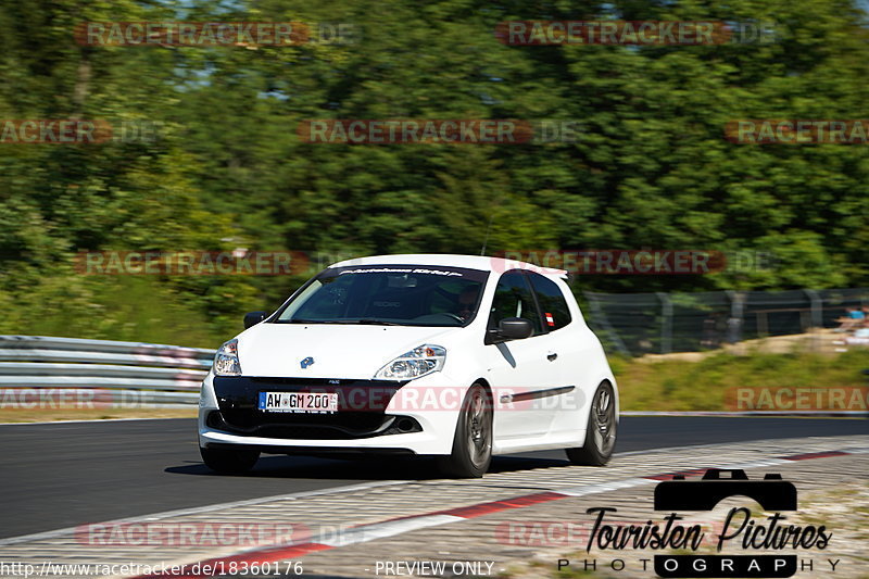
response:
[(331, 267), (286, 304), (276, 322), (466, 326), (477, 315), (488, 276), (442, 266)]

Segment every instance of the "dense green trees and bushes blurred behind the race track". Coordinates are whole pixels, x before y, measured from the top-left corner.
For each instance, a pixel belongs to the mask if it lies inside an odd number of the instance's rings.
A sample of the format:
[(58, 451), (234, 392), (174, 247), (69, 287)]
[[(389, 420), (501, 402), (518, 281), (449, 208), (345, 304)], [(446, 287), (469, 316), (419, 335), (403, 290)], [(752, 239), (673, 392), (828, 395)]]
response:
[[(76, 274), (81, 250), (342, 256), (550, 248), (771, 251), (777, 267), (590, 276), (612, 291), (869, 284), (869, 148), (751, 146), (738, 118), (860, 118), (845, 0), (5, 0), (0, 118), (159, 121), (155, 142), (0, 144), (0, 332), (216, 345), (299, 276)], [(766, 42), (508, 47), (505, 20), (773, 22)], [(83, 21), (353, 23), (352, 45), (84, 47)], [(570, 118), (577, 142), (301, 142), (311, 118)], [(487, 228), (491, 223), (491, 231)]]

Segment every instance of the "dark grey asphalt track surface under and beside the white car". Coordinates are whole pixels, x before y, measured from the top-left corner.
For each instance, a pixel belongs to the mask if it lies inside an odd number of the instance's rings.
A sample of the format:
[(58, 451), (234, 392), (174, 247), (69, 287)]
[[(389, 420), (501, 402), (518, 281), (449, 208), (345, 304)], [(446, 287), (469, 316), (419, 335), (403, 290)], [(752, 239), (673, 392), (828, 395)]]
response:
[[(616, 452), (865, 435), (864, 419), (622, 417)], [(265, 456), (245, 477), (202, 465), (193, 419), (0, 426), (0, 538), (369, 480), (439, 478), (430, 461)], [(493, 470), (564, 464), (562, 451), (496, 457)]]

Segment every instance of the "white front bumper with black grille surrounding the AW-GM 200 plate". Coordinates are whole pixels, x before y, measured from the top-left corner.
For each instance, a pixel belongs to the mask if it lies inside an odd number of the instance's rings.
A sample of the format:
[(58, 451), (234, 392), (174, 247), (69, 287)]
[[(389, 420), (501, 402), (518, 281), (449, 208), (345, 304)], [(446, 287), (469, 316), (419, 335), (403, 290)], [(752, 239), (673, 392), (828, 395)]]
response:
[[(428, 378), (395, 382), (210, 374), (200, 398), (200, 445), (244, 444), (274, 453), (328, 450), (449, 454), (457, 412), (394, 407), (400, 390), (430, 388), (431, 383), (424, 383), (431, 382)], [(257, 408), (257, 400), (264, 391), (335, 392), (338, 412), (263, 412)]]

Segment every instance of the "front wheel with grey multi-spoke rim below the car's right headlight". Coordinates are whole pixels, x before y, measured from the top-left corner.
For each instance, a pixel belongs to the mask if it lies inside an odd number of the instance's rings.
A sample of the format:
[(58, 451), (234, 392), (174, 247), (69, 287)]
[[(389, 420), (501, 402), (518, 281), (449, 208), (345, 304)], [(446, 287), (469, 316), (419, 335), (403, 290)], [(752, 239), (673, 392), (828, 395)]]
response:
[(453, 478), (480, 478), (492, 463), (492, 399), (480, 383), (473, 385), (458, 413), (453, 452), (439, 457), (440, 470)]

